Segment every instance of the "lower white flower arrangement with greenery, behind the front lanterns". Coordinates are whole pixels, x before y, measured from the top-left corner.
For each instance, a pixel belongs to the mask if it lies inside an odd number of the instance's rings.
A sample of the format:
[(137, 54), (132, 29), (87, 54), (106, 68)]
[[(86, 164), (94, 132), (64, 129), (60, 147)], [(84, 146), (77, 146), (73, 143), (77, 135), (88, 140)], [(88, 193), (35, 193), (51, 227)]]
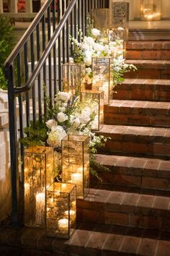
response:
[[(55, 176), (61, 170), (61, 140), (66, 135), (88, 135), (89, 149), (91, 153), (91, 173), (98, 176), (94, 166), (98, 166), (93, 154), (97, 153), (97, 148), (102, 147), (109, 137), (95, 135), (91, 132), (94, 124), (96, 112), (89, 111), (80, 101), (79, 96), (72, 98), (69, 93), (60, 92), (55, 95), (53, 106), (50, 106), (49, 98), (46, 97), (47, 113), (42, 123), (37, 122), (37, 128), (32, 125), (24, 128), (24, 133), (29, 137), (24, 137), (21, 142), (26, 146), (47, 145), (55, 149), (57, 161), (55, 164)], [(56, 153), (57, 152), (57, 153)], [(92, 156), (93, 155), (93, 156)], [(103, 167), (104, 168), (104, 167)], [(107, 168), (104, 168), (107, 170)]]

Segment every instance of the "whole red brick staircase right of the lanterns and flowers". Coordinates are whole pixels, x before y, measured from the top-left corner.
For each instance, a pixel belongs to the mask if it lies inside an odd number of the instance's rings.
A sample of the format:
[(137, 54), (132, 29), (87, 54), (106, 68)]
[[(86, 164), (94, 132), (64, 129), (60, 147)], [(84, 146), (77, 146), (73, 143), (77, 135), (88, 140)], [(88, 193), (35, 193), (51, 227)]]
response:
[(169, 52), (169, 41), (128, 43), (128, 62), (138, 71), (105, 106), (99, 131), (112, 137), (97, 155), (110, 171), (99, 170), (103, 182), (91, 177), (71, 239), (1, 226), (3, 256), (170, 255)]

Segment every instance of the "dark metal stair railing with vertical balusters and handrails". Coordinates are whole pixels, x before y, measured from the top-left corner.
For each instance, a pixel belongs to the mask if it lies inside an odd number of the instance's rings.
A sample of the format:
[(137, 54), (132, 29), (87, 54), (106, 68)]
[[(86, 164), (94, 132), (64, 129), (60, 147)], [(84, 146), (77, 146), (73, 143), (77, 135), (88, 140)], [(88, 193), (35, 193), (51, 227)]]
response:
[(108, 0), (47, 0), (35, 20), (22, 36), (4, 64), (9, 94), (9, 135), (12, 174), (11, 224), (22, 224), (24, 171), (19, 173), (19, 156), (23, 157), (24, 127), (30, 121), (42, 121), (45, 114), (44, 84), (53, 101), (62, 90), (61, 64), (68, 62), (72, 48), (69, 35), (78, 38), (81, 29), (86, 35), (86, 14), (93, 8), (108, 7)]

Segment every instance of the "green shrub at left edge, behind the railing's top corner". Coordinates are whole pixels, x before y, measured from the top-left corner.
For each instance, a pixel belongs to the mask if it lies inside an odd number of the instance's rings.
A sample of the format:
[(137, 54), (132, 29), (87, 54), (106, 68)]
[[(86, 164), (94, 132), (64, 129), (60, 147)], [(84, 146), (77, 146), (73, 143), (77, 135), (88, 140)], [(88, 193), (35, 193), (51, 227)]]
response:
[(6, 90), (7, 82), (4, 77), (3, 64), (14, 47), (14, 27), (6, 17), (0, 16), (0, 88)]

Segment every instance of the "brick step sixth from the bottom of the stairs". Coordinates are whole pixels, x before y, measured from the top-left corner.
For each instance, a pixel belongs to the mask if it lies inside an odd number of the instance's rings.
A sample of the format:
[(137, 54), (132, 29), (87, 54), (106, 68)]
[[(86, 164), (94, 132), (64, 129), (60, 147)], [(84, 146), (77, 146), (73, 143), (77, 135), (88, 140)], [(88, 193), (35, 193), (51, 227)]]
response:
[(118, 85), (115, 100), (169, 101), (170, 81), (127, 78)]

